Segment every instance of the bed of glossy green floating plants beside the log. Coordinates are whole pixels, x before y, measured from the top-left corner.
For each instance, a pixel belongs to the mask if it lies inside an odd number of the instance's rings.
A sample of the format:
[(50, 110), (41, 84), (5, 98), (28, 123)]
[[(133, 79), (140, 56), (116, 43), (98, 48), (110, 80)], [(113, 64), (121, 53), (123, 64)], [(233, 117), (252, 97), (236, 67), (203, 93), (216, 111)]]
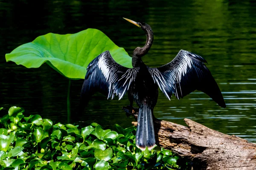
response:
[(113, 131), (92, 123), (80, 128), (27, 116), (14, 106), (0, 119), (0, 127), (0, 170), (189, 169), (185, 159), (169, 150), (138, 149), (134, 126), (115, 125)]

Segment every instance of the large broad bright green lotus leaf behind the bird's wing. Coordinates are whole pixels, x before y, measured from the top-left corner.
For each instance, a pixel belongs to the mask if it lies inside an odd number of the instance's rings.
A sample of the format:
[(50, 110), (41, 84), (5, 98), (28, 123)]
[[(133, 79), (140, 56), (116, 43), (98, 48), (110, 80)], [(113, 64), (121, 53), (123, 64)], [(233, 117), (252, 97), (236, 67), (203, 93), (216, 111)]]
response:
[(46, 34), (20, 45), (6, 61), (27, 68), (38, 68), (44, 62), (70, 79), (84, 79), (87, 65), (99, 54), (110, 51), (119, 64), (131, 68), (131, 57), (119, 48), (102, 31), (87, 29), (76, 34)]

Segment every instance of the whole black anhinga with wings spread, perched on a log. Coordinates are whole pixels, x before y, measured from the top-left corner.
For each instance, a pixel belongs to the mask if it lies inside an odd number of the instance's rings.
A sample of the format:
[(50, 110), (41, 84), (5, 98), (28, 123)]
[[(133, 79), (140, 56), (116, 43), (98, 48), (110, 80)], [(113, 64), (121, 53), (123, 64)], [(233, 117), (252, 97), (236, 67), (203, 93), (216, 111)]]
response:
[(139, 106), (136, 145), (141, 150), (155, 145), (153, 109), (157, 103), (158, 87), (170, 100), (172, 94), (177, 99), (183, 98), (192, 91), (199, 90), (209, 95), (222, 108), (226, 108), (223, 96), (204, 58), (189, 51), (180, 50), (177, 56), (166, 65), (149, 68), (141, 57), (149, 51), (153, 43), (153, 31), (146, 23), (137, 23), (126, 19), (140, 27), (147, 40), (143, 48), (137, 47), (132, 54), (133, 68), (119, 65), (105, 51), (93, 59), (87, 67), (87, 74), (81, 90), (82, 105), (86, 105), (96, 91), (100, 91), (113, 99), (119, 99), (128, 91), (128, 99), (132, 107), (135, 101)]

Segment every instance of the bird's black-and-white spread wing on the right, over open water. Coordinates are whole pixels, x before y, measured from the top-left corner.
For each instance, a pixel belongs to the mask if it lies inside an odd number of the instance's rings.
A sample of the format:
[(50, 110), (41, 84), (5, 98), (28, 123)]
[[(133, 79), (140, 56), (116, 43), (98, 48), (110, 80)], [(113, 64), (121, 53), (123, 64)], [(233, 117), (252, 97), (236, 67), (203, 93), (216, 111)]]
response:
[(180, 50), (171, 62), (148, 71), (169, 100), (172, 94), (180, 99), (199, 90), (226, 108), (221, 91), (204, 62), (207, 61), (203, 57)]

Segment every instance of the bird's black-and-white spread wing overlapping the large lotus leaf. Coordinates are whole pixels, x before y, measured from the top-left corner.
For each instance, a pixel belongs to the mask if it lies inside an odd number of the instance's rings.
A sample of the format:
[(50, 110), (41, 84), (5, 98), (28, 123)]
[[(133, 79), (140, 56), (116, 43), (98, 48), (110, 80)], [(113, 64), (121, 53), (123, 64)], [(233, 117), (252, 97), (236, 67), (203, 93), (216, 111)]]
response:
[(93, 59), (87, 67), (84, 84), (81, 90), (80, 105), (86, 105), (90, 97), (97, 91), (113, 99), (115, 94), (119, 99), (125, 95), (131, 83), (135, 80), (139, 68), (126, 68), (119, 65), (105, 51)]

